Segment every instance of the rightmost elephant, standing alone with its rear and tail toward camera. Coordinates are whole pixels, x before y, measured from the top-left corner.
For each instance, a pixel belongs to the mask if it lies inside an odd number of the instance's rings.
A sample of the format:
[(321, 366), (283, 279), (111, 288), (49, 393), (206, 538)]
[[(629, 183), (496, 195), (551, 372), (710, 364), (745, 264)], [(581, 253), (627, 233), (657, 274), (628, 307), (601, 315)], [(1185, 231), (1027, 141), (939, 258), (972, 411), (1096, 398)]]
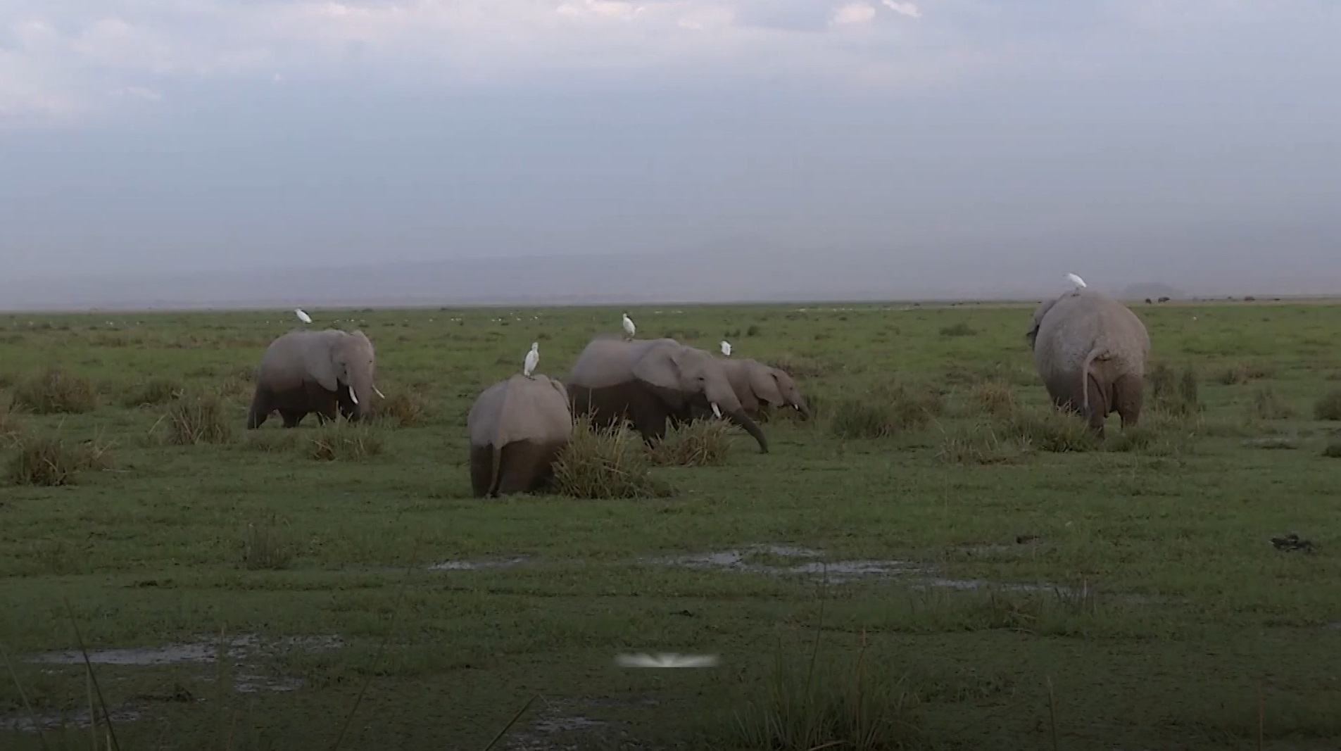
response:
[(1073, 290), (1038, 306), (1026, 338), (1054, 405), (1078, 412), (1100, 437), (1113, 412), (1122, 428), (1137, 424), (1151, 337), (1126, 306)]

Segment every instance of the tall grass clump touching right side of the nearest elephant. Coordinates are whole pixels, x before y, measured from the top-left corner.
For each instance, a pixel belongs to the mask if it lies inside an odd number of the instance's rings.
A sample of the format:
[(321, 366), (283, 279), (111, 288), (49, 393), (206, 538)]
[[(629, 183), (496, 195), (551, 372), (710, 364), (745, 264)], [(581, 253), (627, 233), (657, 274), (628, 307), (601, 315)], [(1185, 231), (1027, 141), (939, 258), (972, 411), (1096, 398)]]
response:
[(554, 461), (554, 488), (583, 499), (668, 498), (669, 484), (652, 476), (642, 437), (622, 425), (597, 428), (582, 414)]

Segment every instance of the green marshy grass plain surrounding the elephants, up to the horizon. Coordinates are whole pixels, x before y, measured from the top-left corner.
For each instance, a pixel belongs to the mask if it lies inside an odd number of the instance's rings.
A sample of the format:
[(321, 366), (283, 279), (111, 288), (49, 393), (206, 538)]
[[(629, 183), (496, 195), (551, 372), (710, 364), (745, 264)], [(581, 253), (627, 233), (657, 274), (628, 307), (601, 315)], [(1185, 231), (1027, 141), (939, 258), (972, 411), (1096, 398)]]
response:
[[(310, 310), (377, 346), (381, 451), (243, 429), (290, 312), (3, 315), (0, 746), (107, 747), (82, 658), (39, 661), (82, 641), (126, 750), (331, 748), (355, 704), (342, 748), (485, 748), (535, 695), (493, 748), (1336, 748), (1341, 306), (1136, 303), (1198, 406), (1165, 385), (1098, 447), (1047, 418), (1031, 308), (630, 308), (818, 414), (629, 500), (476, 500), (465, 464), (473, 397), (618, 310)], [(67, 412), (32, 406), (54, 365)], [(231, 429), (176, 445), (194, 389)], [(67, 484), (15, 483), (42, 436)], [(642, 650), (720, 664), (614, 665)]]

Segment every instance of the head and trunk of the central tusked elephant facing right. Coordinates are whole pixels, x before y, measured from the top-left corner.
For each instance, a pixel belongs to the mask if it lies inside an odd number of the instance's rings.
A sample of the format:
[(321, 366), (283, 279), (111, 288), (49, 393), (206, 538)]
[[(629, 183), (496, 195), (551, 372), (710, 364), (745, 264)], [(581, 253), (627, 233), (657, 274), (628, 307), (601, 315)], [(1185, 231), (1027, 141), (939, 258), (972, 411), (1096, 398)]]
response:
[(707, 406), (744, 428), (759, 443), (759, 451), (768, 453), (768, 439), (742, 409), (727, 371), (711, 354), (673, 342), (658, 345), (638, 358), (633, 376), (657, 388), (672, 412), (683, 412), (692, 404)]

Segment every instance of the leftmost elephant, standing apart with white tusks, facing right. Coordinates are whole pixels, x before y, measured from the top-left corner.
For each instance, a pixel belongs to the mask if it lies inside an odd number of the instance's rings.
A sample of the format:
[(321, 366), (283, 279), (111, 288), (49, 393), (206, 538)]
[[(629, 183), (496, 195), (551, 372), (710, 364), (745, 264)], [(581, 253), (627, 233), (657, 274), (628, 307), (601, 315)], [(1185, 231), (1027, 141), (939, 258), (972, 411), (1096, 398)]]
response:
[(290, 331), (270, 343), (256, 371), (256, 393), (247, 428), (260, 428), (279, 410), (286, 428), (296, 428), (308, 412), (320, 422), (337, 412), (351, 421), (370, 414), (377, 365), (373, 342), (362, 331)]

